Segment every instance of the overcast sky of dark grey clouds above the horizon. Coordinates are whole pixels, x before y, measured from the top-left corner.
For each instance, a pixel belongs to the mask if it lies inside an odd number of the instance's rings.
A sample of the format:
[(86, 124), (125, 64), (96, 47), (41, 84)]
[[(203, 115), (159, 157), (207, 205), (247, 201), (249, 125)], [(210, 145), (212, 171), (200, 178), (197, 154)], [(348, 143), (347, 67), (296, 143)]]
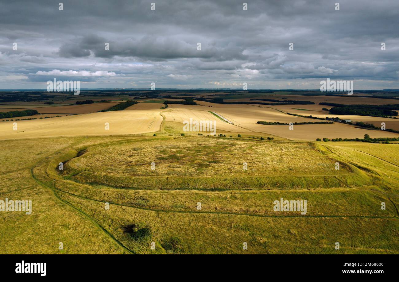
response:
[(399, 89), (397, 0), (245, 1), (1, 1), (0, 89)]

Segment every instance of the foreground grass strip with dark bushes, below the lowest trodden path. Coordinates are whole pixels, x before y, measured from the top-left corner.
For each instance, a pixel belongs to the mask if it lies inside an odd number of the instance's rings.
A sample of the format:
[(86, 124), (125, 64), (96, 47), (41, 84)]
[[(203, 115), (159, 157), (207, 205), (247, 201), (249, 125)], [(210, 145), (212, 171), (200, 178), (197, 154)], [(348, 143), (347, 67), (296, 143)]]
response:
[[(178, 237), (184, 253), (203, 254), (373, 254), (397, 253), (397, 219), (350, 217), (257, 217), (233, 214), (159, 212), (104, 204), (60, 192), (134, 253), (167, 253), (164, 247)], [(151, 234), (132, 239), (124, 227), (144, 221)], [(356, 233), (356, 235), (355, 235)], [(335, 242), (340, 250), (335, 250)], [(150, 249), (150, 243), (156, 249)], [(243, 242), (248, 250), (243, 250)]]

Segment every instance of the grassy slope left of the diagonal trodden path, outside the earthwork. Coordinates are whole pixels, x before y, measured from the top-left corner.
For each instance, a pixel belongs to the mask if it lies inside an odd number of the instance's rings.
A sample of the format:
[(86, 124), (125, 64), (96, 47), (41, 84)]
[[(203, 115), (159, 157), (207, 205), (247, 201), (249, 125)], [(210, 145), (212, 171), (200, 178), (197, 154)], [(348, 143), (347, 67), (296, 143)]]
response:
[[(90, 219), (57, 199), (49, 187), (38, 181), (41, 178), (52, 183), (44, 173), (49, 162), (80, 139), (0, 142), (2, 148), (10, 148), (0, 152), (0, 167), (3, 169), (1, 199), (32, 201), (31, 215), (24, 212), (0, 213), (1, 254), (126, 253)], [(63, 243), (63, 250), (59, 250), (59, 242)]]

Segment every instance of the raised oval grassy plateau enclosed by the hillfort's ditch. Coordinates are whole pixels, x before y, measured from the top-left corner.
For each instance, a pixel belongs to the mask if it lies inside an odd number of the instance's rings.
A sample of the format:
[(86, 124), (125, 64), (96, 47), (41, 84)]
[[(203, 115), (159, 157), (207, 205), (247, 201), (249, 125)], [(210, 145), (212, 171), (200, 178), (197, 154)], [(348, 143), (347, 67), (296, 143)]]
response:
[[(150, 169), (152, 162), (156, 170)], [(335, 170), (336, 162), (312, 143), (141, 138), (88, 148), (68, 162), (64, 176), (79, 183), (133, 189), (316, 189), (370, 182), (345, 162)]]

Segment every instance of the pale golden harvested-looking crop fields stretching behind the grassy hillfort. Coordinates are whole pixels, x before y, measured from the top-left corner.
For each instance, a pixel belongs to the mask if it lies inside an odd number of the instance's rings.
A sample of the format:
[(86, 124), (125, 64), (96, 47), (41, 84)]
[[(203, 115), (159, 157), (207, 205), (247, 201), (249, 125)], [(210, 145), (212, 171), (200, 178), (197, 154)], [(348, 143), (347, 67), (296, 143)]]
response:
[[(98, 103), (110, 104), (110, 103)], [(94, 105), (98, 105), (94, 104)], [(334, 124), (303, 124), (295, 125), (289, 130), (288, 125), (262, 125), (257, 121), (268, 122), (314, 122), (317, 120), (292, 116), (284, 112), (286, 107), (263, 105), (222, 105), (198, 101), (199, 105), (170, 104), (161, 110), (162, 103), (138, 103), (123, 111), (104, 112), (91, 114), (79, 114), (75, 116), (57, 117), (45, 120), (21, 120), (18, 121), (17, 130), (13, 130), (13, 122), (0, 122), (0, 134), (2, 139), (26, 138), (26, 137), (51, 137), (51, 136), (85, 136), (108, 134), (141, 134), (160, 130), (162, 120), (181, 123), (193, 120), (215, 120), (216, 130), (229, 132), (261, 132), (274, 136), (280, 136), (291, 140), (315, 140), (316, 138), (362, 138), (369, 134), (372, 138), (396, 137), (396, 133), (383, 130), (366, 130), (348, 124), (334, 122)], [(65, 106), (69, 108), (89, 105)], [(307, 106), (307, 105), (294, 105)], [(314, 106), (314, 105), (311, 105)], [(47, 109), (47, 107), (46, 107)], [(219, 114), (229, 122), (218, 118), (212, 112)], [(308, 115), (307, 111), (298, 110), (302, 115)], [(304, 114), (306, 112), (306, 114)], [(295, 112), (296, 113), (296, 112)], [(324, 116), (315, 114), (314, 116)], [(325, 117), (325, 116), (324, 116)], [(358, 118), (360, 117), (360, 118)], [(342, 116), (353, 118), (354, 121), (373, 121), (367, 116)], [(396, 128), (395, 120), (389, 118), (375, 118), (380, 121), (388, 121), (387, 128)], [(105, 129), (105, 123), (109, 123), (109, 130)], [(181, 130), (182, 131), (182, 130)]]

